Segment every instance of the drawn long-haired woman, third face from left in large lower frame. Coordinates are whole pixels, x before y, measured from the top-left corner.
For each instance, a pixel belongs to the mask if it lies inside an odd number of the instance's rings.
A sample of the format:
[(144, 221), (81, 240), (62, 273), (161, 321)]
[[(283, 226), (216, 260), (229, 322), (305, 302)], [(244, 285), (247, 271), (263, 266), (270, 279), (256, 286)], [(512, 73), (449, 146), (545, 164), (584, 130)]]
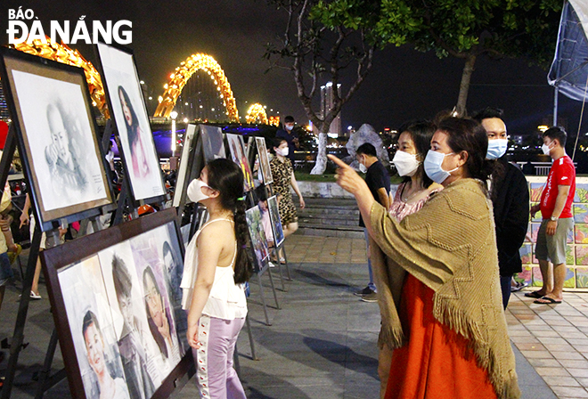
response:
[(145, 311), (151, 335), (159, 347), (163, 366), (167, 371), (180, 362), (180, 351), (174, 322), (161, 296), (161, 289), (151, 266), (143, 271)]

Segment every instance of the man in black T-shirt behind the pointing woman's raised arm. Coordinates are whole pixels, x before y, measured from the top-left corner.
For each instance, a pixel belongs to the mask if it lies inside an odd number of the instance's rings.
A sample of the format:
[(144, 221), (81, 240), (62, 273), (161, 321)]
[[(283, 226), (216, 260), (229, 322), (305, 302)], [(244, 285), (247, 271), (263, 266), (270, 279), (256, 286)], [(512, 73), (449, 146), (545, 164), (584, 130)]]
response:
[[(372, 191), (373, 198), (388, 209), (390, 207), (390, 175), (388, 175), (388, 170), (378, 159), (376, 148), (369, 142), (364, 142), (355, 151), (355, 158), (359, 162), (360, 170), (365, 173), (365, 183)], [(367, 245), (370, 282), (367, 287), (355, 292), (355, 295), (362, 297), (365, 302), (377, 302), (378, 297), (376, 295), (376, 286), (373, 283), (372, 262), (370, 261), (370, 240), (361, 215), (359, 216), (359, 225), (363, 227), (363, 235)]]

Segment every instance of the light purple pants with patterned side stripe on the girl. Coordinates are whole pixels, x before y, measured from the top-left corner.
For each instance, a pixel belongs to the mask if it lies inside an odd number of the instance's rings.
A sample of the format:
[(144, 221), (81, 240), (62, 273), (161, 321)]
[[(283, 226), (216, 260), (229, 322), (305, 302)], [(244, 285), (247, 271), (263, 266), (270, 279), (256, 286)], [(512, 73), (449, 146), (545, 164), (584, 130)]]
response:
[(210, 399), (246, 399), (233, 353), (245, 319), (223, 320), (202, 315), (198, 325), (200, 349), (192, 348), (200, 396)]

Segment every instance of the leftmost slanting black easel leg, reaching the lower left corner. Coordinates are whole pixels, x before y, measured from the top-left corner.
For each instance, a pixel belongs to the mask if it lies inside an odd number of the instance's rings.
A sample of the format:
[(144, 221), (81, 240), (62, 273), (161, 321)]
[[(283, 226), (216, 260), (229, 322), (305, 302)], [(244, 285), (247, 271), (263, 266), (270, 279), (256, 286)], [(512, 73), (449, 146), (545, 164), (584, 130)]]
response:
[(39, 255), (40, 244), (41, 230), (37, 224), (35, 226), (35, 232), (33, 232), (33, 242), (30, 245), (27, 273), (25, 274), (25, 279), (22, 281), (19, 311), (16, 316), (16, 322), (14, 323), (14, 333), (12, 334), (12, 341), (10, 344), (10, 358), (8, 359), (4, 387), (2, 388), (2, 399), (9, 399), (12, 392), (12, 383), (14, 381), (14, 374), (16, 373), (16, 365), (19, 361), (20, 349), (24, 338), (25, 323), (27, 322), (27, 314), (29, 313), (30, 288), (33, 286), (33, 276), (35, 275), (35, 268), (37, 267), (37, 257)]

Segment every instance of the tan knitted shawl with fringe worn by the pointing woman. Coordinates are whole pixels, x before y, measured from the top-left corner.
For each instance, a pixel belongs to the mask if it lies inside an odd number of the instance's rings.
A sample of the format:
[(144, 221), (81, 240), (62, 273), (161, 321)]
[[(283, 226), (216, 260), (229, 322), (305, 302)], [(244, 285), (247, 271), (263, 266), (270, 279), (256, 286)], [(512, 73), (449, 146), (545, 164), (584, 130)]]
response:
[(396, 348), (405, 343), (397, 308), (405, 273), (411, 273), (435, 291), (435, 319), (470, 340), (498, 397), (519, 398), (502, 310), (492, 205), (482, 184), (474, 179), (451, 183), (402, 222), (374, 202), (371, 224), (380, 344)]

